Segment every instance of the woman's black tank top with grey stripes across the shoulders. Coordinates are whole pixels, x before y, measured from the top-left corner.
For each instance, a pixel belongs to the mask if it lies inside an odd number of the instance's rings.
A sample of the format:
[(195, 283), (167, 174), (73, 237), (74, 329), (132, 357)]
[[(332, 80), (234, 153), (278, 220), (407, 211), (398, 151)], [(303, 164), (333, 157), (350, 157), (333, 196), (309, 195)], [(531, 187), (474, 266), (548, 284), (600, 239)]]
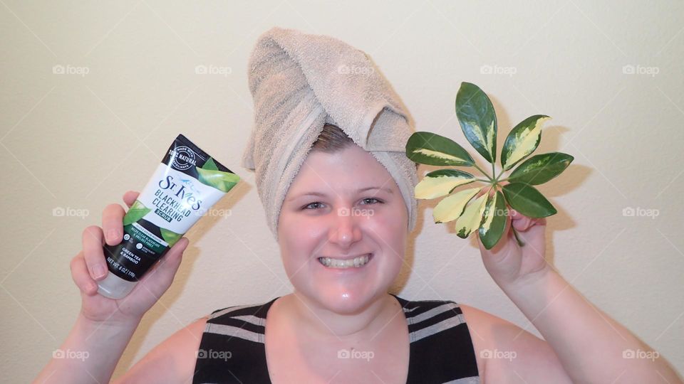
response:
[[(458, 304), (392, 296), (408, 321), (407, 383), (480, 383), (470, 331)], [(212, 312), (199, 343), (192, 383), (270, 384), (264, 331), (266, 313), (276, 299)]]

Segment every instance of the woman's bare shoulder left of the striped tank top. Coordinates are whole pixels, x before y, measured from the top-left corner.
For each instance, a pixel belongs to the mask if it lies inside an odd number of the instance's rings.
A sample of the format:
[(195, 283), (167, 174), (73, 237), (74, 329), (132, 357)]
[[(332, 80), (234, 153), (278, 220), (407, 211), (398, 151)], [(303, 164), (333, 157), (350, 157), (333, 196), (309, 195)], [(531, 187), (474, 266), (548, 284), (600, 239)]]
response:
[(209, 315), (196, 319), (152, 348), (115, 383), (187, 383)]

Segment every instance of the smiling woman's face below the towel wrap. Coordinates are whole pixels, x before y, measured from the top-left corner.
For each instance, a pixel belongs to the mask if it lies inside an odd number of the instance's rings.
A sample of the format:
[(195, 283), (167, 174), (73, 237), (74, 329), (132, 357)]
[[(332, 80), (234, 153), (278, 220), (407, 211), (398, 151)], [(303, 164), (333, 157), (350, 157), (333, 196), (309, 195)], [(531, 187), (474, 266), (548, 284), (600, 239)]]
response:
[[(394, 179), (353, 144), (311, 151), (281, 208), (278, 238), (285, 271), (299, 294), (341, 314), (386, 294), (403, 264), (408, 212)], [(336, 268), (369, 256), (365, 265)], [(357, 260), (358, 262), (358, 260)]]

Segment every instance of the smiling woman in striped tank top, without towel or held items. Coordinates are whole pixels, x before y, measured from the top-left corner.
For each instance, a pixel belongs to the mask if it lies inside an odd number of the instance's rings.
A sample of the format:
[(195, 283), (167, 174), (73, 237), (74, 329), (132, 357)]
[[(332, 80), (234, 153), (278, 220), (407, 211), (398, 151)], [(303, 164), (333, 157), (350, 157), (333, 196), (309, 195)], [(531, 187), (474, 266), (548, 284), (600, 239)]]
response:
[[(544, 219), (512, 211), (496, 247), (478, 242), (489, 274), (545, 341), (472, 306), (388, 294), (414, 212), (404, 181), (342, 129), (324, 124), (294, 172), (273, 216), (294, 292), (194, 321), (117, 383), (681, 383), (662, 358), (625, 358), (651, 348), (546, 264)], [(136, 196), (123, 200), (130, 206)], [(186, 238), (125, 299), (97, 294), (107, 272), (102, 244), (120, 242), (124, 213), (107, 206), (102, 228), (84, 230), (71, 262), (82, 307), (61, 348), (88, 358), (53, 359), (36, 382), (108, 382), (140, 319), (170, 287)]]

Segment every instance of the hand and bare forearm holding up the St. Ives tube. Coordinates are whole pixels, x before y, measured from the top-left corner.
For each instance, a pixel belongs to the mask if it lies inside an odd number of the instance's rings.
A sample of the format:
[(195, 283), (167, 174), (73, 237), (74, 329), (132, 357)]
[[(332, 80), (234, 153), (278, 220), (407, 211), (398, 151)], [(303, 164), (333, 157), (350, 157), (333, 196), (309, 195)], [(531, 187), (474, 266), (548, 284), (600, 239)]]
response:
[[(130, 207), (138, 193), (124, 195)], [(81, 311), (66, 341), (43, 368), (35, 383), (108, 383), (140, 319), (170, 287), (187, 247), (178, 240), (157, 265), (123, 299), (98, 294), (97, 281), (107, 272), (103, 244), (123, 238), (123, 215), (118, 204), (103, 211), (103, 226), (83, 230), (83, 250), (71, 260), (71, 277), (81, 292)], [(98, 270), (100, 272), (98, 272)]]

